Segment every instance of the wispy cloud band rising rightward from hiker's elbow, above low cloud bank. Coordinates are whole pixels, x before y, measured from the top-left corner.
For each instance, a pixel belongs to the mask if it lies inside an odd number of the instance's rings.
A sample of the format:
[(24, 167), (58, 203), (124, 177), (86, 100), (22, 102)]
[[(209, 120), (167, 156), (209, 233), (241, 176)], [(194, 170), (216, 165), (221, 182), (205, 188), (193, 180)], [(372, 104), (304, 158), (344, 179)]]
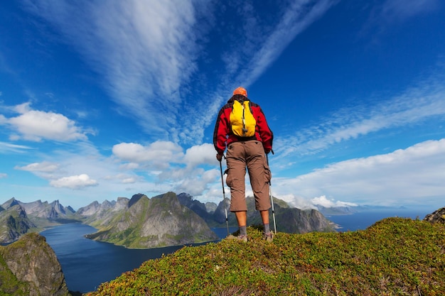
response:
[(301, 157), (320, 153), (336, 143), (390, 128), (419, 124), (445, 115), (443, 75), (436, 74), (389, 99), (379, 98), (373, 105), (343, 108), (318, 119), (320, 124), (303, 128), (294, 136), (278, 138), (278, 158), (293, 154)]

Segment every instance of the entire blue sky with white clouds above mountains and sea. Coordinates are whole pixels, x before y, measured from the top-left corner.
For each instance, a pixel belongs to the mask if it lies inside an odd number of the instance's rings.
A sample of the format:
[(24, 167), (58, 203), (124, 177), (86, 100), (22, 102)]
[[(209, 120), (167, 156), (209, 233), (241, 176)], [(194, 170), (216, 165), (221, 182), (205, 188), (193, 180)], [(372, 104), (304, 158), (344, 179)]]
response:
[(244, 86), (274, 196), (444, 207), (445, 4), (409, 2), (2, 1), (0, 201), (219, 202), (215, 117)]

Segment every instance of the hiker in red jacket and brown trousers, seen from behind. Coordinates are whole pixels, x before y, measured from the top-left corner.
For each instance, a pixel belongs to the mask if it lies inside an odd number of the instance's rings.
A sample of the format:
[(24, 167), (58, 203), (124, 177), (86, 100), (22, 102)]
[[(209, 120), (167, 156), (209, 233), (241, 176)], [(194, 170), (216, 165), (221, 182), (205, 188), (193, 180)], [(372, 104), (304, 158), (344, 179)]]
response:
[(274, 135), (267, 125), (259, 105), (250, 102), (247, 90), (238, 87), (227, 104), (220, 109), (213, 132), (216, 159), (221, 162), (227, 147), (227, 186), (230, 187), (230, 212), (234, 212), (240, 236), (231, 238), (247, 241), (247, 204), (245, 199), (246, 167), (255, 199), (261, 214), (263, 239), (272, 241), (269, 227), (269, 182), (272, 177), (266, 154), (272, 151)]

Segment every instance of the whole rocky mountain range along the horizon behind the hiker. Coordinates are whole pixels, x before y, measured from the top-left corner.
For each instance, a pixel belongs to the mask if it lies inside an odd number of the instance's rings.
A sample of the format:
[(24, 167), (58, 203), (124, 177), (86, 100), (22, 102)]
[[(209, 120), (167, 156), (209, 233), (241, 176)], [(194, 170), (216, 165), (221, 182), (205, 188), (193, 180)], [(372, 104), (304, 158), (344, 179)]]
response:
[[(218, 236), (210, 227), (225, 227), (225, 208), (228, 209), (229, 204), (227, 198), (219, 204), (204, 204), (187, 193), (167, 192), (151, 198), (134, 194), (131, 199), (118, 197), (111, 202), (95, 201), (75, 211), (72, 207), (63, 207), (58, 200), (24, 203), (12, 198), (0, 207), (0, 243), (10, 243), (27, 232), (69, 222), (94, 226), (97, 232), (87, 235), (89, 239), (128, 248), (215, 241)], [(253, 197), (247, 197), (247, 208), (249, 224), (261, 224), (259, 212), (254, 210)], [(277, 198), (274, 198), (274, 209), (277, 231), (296, 234), (335, 231), (333, 223), (317, 210), (289, 207)], [(230, 212), (227, 215), (228, 224), (236, 226), (235, 215)]]

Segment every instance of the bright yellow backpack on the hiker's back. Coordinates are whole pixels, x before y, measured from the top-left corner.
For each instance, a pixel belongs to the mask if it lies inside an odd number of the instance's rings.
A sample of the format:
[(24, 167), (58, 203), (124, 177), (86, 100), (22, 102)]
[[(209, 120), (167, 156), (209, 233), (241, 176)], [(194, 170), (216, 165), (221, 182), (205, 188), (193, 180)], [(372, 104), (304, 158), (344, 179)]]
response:
[(236, 136), (251, 137), (255, 134), (257, 121), (254, 119), (250, 109), (250, 101), (233, 102), (232, 113), (230, 114), (230, 125)]

